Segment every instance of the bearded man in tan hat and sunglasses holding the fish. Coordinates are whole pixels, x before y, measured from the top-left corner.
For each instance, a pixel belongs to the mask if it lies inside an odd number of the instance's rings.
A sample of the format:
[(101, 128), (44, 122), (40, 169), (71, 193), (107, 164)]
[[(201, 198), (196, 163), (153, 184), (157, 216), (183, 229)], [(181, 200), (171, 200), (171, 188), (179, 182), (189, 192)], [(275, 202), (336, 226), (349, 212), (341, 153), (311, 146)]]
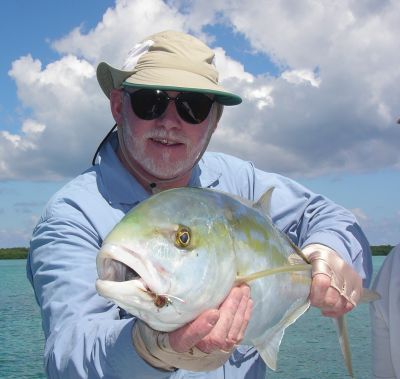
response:
[(265, 377), (254, 348), (240, 346), (252, 309), (247, 286), (169, 334), (96, 294), (103, 239), (156, 191), (198, 186), (257, 200), (274, 186), (273, 221), (313, 262), (314, 306), (340, 316), (356, 305), (361, 277), (369, 280), (368, 243), (349, 212), (288, 178), (204, 153), (223, 106), (241, 102), (218, 84), (213, 61), (198, 39), (166, 31), (137, 45), (123, 70), (98, 66), (117, 132), (101, 144), (98, 163), (51, 199), (31, 241), (28, 277), (42, 309), (50, 377)]

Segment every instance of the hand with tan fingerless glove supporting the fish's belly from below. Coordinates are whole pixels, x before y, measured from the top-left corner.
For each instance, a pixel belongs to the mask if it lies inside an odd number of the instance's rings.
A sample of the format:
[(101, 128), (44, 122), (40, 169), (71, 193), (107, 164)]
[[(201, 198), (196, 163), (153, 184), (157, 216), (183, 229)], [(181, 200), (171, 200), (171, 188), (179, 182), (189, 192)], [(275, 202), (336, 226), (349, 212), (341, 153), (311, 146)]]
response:
[(252, 307), (250, 288), (234, 287), (218, 309), (203, 312), (173, 332), (157, 332), (138, 320), (133, 328), (133, 344), (144, 360), (163, 370), (215, 370), (242, 340)]

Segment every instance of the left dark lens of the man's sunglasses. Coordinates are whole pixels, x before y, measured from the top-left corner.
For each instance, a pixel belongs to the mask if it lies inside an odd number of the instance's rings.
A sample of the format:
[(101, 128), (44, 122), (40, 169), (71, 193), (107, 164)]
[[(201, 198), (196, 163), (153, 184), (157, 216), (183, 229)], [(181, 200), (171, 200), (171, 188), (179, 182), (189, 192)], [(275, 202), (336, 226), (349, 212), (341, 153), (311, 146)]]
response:
[(142, 120), (160, 117), (168, 106), (168, 96), (162, 91), (141, 89), (129, 95), (133, 111)]

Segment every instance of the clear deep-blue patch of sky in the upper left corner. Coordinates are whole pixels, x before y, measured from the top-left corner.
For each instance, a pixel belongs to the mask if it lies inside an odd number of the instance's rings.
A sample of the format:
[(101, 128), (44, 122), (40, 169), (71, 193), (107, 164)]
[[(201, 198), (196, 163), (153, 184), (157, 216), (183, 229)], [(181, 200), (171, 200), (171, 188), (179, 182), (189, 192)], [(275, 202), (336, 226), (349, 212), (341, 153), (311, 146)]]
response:
[[(90, 29), (101, 19), (113, 1), (5, 1), (2, 4), (0, 23), (1, 46), (4, 53), (0, 60), (1, 84), (1, 126), (16, 128), (13, 113), (18, 107), (14, 81), (8, 76), (11, 63), (19, 57), (31, 54), (40, 58), (43, 64), (57, 59), (58, 54), (51, 48), (52, 40), (62, 37), (76, 26)], [(7, 122), (8, 120), (8, 122)], [(10, 124), (11, 123), (11, 124)]]

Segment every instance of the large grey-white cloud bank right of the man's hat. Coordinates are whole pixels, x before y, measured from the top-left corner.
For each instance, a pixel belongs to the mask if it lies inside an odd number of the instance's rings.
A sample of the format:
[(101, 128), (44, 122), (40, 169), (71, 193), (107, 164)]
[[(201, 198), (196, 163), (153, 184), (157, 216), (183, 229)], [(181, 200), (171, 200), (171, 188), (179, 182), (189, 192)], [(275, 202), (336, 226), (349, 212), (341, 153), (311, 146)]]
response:
[[(399, 167), (400, 5), (363, 4), (228, 2), (223, 14), (235, 31), (284, 68), (237, 86), (247, 105), (228, 125), (260, 145), (248, 155), (258, 166), (296, 176)], [(249, 94), (262, 86), (265, 106), (255, 107)], [(242, 149), (231, 142), (229, 152)]]

